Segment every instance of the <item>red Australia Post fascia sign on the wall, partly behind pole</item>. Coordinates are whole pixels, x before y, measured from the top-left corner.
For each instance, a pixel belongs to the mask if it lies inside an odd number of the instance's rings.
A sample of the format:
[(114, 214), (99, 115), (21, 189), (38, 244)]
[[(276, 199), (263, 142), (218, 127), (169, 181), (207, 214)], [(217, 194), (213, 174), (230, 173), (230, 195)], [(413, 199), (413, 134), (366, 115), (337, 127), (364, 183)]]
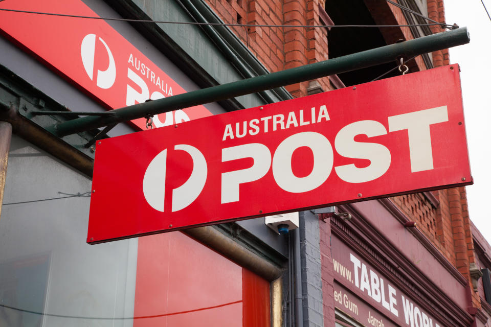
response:
[[(99, 17), (81, 0), (5, 1), (4, 9)], [(102, 19), (0, 11), (0, 32), (109, 108), (186, 91)], [(153, 116), (156, 127), (209, 116), (196, 106)], [(145, 119), (133, 121), (145, 129)]]

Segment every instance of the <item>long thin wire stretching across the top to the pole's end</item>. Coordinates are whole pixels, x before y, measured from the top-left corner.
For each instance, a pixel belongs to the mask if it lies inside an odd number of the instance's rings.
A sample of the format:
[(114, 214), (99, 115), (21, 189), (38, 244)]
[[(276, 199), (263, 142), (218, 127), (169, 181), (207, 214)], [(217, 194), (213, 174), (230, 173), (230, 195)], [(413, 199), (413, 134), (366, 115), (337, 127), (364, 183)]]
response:
[[(209, 26), (238, 26), (238, 27), (304, 27), (304, 28), (334, 28), (334, 27), (362, 27), (362, 28), (382, 28), (382, 27), (413, 27), (413, 26), (441, 26), (439, 22), (432, 24), (408, 24), (408, 25), (256, 25), (256, 24), (227, 24), (221, 22), (196, 22), (196, 21), (168, 21), (168, 20), (151, 20), (151, 19), (128, 19), (128, 18), (108, 18), (108, 17), (95, 17), (95, 16), (80, 16), (69, 14), (56, 14), (39, 11), (28, 10), (16, 10), (16, 9), (4, 9), (0, 8), (0, 11), (18, 12), (26, 14), (37, 15), (50, 15), (60, 17), (72, 17), (72, 18), (85, 18), (85, 19), (102, 19), (102, 20), (116, 20), (127, 22), (153, 22), (158, 24), (181, 24), (181, 25), (209, 25)], [(449, 25), (451, 26), (451, 25)]]

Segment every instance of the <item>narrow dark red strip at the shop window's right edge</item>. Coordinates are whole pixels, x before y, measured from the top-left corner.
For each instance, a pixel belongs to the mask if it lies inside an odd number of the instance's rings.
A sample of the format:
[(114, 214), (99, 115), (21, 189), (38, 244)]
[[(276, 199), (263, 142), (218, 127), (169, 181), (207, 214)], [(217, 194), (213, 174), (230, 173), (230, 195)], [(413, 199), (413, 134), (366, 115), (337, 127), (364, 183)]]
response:
[(271, 321), (270, 283), (242, 269), (242, 317), (244, 327), (269, 326)]

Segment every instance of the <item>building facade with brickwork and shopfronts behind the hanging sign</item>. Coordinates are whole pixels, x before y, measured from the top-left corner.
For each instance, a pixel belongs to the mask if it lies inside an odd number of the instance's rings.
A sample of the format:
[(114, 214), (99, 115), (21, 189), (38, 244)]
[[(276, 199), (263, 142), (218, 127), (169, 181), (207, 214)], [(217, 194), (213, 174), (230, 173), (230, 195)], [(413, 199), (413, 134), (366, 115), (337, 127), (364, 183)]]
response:
[[(88, 245), (95, 143), (150, 121), (102, 133), (52, 128), (70, 112), (104, 114), (443, 31), (414, 26), (427, 24), (421, 15), (444, 22), (442, 1), (396, 5), (0, 2), (1, 9), (38, 12), (0, 11), (0, 325), (488, 325), (489, 245), (470, 221), (463, 187), (300, 212), (299, 228), (287, 235), (256, 218)], [(322, 25), (413, 26), (308, 27)], [(447, 50), (404, 60), (410, 73), (449, 64)], [(151, 123), (333, 91), (399, 75), (396, 68), (395, 61), (353, 67), (155, 115)]]

